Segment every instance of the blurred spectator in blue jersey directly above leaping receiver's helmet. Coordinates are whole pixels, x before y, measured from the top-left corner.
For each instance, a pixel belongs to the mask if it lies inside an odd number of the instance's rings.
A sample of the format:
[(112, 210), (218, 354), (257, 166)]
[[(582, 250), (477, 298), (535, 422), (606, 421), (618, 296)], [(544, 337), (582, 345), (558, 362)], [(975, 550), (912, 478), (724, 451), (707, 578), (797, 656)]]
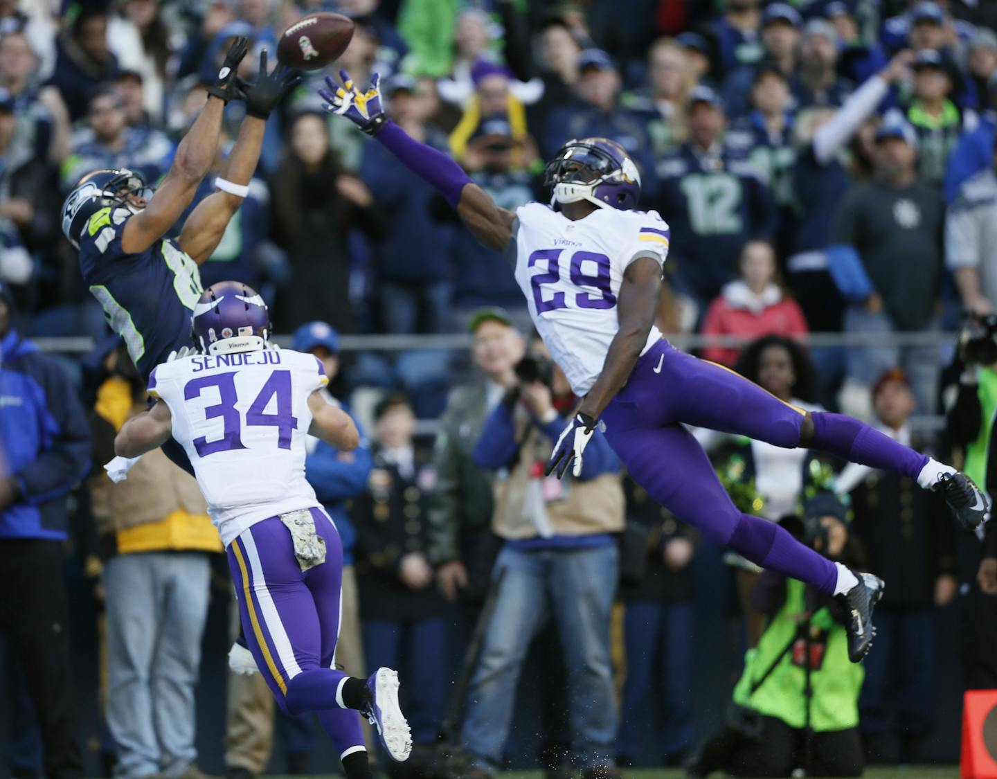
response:
[(155, 186), (169, 169), (173, 144), (159, 130), (128, 125), (125, 106), (113, 87), (102, 87), (87, 108), (87, 127), (73, 134), (72, 154), (62, 167), (64, 190), (94, 171), (129, 168)]

